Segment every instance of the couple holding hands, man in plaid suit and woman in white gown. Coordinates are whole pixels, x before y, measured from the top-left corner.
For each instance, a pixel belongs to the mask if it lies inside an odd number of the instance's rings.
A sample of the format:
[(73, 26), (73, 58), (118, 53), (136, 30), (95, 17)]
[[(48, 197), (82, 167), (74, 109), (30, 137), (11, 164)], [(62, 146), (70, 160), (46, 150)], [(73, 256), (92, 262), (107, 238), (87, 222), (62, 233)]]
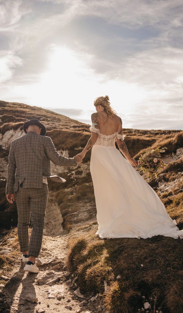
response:
[[(108, 96), (94, 100), (96, 113), (91, 115), (92, 133), (81, 153), (67, 158), (56, 151), (45, 126), (32, 119), (23, 125), (26, 135), (11, 143), (8, 156), (6, 197), (16, 200), (18, 237), (25, 271), (37, 273), (35, 259), (42, 244), (48, 198), (47, 177), (64, 182), (51, 174), (51, 162), (75, 167), (92, 148), (90, 172), (97, 208), (96, 232), (100, 238), (150, 238), (164, 235), (183, 238), (176, 221), (172, 220), (156, 192), (134, 167), (122, 135), (122, 121), (112, 109)], [(62, 140), (62, 139), (61, 139)], [(119, 150), (116, 149), (115, 141)], [(32, 232), (29, 240), (28, 226)]]

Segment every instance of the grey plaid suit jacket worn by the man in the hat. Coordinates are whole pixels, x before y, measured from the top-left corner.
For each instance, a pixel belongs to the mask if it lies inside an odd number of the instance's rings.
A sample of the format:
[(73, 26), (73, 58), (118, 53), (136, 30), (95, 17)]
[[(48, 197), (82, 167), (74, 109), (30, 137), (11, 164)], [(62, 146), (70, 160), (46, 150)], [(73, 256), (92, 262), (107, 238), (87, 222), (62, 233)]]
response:
[(50, 160), (60, 166), (77, 166), (73, 158), (56, 151), (50, 137), (34, 131), (12, 141), (8, 156), (6, 194), (23, 188), (42, 188), (43, 174), (51, 175)]

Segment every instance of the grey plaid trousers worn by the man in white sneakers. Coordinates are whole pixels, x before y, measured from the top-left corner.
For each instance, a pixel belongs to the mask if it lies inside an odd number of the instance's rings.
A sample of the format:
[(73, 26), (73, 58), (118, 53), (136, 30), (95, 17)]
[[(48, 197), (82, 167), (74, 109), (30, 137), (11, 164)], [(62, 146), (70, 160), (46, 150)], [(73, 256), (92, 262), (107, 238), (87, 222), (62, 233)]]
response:
[[(41, 249), (45, 211), (48, 198), (48, 187), (45, 183), (42, 188), (21, 188), (15, 192), (18, 210), (18, 237), (20, 251), (28, 251), (28, 257), (38, 257)], [(28, 227), (32, 225), (29, 242)]]

